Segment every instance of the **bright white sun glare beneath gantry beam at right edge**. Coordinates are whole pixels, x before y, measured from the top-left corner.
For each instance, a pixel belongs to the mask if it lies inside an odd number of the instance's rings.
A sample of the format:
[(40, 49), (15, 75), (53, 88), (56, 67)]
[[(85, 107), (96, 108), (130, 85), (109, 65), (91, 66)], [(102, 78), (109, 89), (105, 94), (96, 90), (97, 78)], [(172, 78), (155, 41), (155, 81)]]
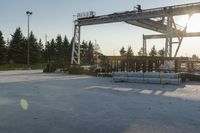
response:
[(200, 14), (194, 14), (187, 27), (187, 32), (200, 32)]

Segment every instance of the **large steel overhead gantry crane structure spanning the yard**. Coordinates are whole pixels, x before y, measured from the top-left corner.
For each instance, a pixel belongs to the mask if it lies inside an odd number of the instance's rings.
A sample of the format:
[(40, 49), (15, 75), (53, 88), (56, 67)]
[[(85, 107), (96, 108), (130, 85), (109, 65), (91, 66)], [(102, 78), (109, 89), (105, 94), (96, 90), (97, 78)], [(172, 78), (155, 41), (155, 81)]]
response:
[[(117, 12), (102, 16), (89, 16), (77, 18), (74, 21), (74, 37), (72, 46), (71, 64), (80, 64), (80, 32), (81, 26), (97, 25), (105, 23), (126, 22), (131, 25), (156, 31), (158, 35), (143, 35), (143, 54), (146, 52), (146, 39), (165, 38), (165, 56), (172, 57), (172, 45), (178, 43), (175, 56), (178, 53), (183, 37), (200, 36), (200, 32), (187, 33), (186, 28), (175, 23), (174, 16), (188, 15), (188, 21), (192, 14), (200, 13), (200, 2), (183, 5), (167, 6), (145, 10), (133, 10)], [(178, 41), (174, 42), (173, 38)]]

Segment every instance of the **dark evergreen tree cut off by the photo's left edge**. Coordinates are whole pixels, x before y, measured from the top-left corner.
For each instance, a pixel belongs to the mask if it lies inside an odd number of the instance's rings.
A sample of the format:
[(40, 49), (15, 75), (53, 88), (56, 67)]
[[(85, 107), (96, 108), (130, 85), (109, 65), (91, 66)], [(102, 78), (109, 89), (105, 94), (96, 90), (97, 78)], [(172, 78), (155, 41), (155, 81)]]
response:
[(5, 41), (3, 39), (3, 34), (0, 31), (0, 64), (5, 63), (6, 61), (6, 46)]

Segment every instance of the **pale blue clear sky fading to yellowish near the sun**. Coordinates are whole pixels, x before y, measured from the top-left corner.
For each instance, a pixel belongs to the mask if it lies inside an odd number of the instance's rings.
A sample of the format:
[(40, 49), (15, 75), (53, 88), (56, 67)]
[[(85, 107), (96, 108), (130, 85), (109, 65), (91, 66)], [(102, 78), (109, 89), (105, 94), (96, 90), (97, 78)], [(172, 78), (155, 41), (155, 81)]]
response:
[[(199, 2), (190, 0), (190, 3)], [(79, 12), (95, 11), (96, 15), (106, 15), (114, 12), (133, 10), (134, 6), (140, 4), (142, 9), (157, 8), (188, 3), (188, 0), (0, 0), (0, 30), (5, 40), (11, 38), (17, 27), (21, 27), (24, 36), (27, 36), (27, 15), (26, 11), (32, 11), (30, 16), (30, 30), (42, 41), (56, 38), (58, 34), (65, 35), (69, 40), (73, 36), (74, 15)], [(196, 24), (200, 23), (200, 15), (195, 19)], [(184, 25), (187, 16), (176, 19), (177, 23)], [(197, 22), (198, 21), (198, 22)], [(192, 26), (190, 26), (192, 27)], [(200, 26), (199, 26), (200, 27)], [(199, 31), (200, 28), (190, 28)], [(188, 27), (189, 28), (189, 27)], [(140, 27), (132, 26), (124, 22), (101, 24), (81, 27), (81, 40), (97, 42), (102, 53), (105, 55), (119, 55), (122, 46), (125, 49), (131, 46), (137, 54), (142, 47), (142, 35), (156, 34), (156, 32)], [(184, 38), (178, 56), (200, 56), (200, 37)], [(148, 40), (147, 51), (155, 45), (161, 49), (165, 45), (164, 39)], [(173, 46), (173, 52), (177, 45)]]

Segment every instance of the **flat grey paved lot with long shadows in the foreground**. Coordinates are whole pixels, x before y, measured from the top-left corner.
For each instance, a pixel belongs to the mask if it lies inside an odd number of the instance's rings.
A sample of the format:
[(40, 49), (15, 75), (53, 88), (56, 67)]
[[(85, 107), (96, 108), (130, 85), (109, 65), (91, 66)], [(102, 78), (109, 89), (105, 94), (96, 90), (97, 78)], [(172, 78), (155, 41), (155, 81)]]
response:
[(200, 83), (0, 72), (0, 133), (199, 133)]

